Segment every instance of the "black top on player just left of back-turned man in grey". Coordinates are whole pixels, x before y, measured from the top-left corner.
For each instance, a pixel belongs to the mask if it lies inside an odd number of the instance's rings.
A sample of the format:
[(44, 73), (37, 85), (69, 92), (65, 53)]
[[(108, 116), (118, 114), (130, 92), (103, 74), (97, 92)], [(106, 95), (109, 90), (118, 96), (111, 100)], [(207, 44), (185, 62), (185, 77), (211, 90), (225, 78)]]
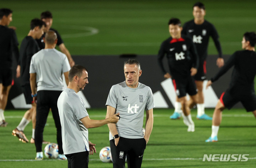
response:
[(38, 44), (31, 36), (25, 37), (20, 46), (21, 86), (30, 83), (30, 61), (34, 54), (39, 51)]

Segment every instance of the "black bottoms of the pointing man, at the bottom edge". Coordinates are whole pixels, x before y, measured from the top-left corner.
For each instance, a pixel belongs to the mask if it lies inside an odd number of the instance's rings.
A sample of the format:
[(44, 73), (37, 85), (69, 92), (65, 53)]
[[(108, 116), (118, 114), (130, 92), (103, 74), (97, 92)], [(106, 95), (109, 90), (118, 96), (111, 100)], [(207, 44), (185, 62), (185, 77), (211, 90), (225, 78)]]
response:
[(65, 155), (68, 159), (68, 168), (88, 168), (89, 151)]

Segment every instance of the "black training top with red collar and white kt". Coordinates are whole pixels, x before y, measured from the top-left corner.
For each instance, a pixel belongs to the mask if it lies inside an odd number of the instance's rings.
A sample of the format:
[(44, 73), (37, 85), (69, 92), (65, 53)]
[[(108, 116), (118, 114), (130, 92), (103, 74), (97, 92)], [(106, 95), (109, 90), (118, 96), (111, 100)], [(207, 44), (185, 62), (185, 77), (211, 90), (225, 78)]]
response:
[(198, 69), (198, 55), (192, 40), (187, 36), (180, 39), (172, 37), (162, 42), (158, 52), (158, 64), (163, 74), (166, 74), (162, 59), (167, 56), (172, 78), (181, 78), (190, 75), (191, 67)]

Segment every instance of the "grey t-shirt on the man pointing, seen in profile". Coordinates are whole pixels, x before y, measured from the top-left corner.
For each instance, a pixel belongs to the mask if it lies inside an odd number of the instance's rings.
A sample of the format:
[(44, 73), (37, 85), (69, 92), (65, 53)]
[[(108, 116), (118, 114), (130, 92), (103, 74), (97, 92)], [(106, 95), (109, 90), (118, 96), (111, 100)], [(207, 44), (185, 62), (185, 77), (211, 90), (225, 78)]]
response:
[(65, 155), (89, 150), (88, 130), (80, 119), (89, 116), (82, 98), (66, 88), (58, 98), (62, 143)]

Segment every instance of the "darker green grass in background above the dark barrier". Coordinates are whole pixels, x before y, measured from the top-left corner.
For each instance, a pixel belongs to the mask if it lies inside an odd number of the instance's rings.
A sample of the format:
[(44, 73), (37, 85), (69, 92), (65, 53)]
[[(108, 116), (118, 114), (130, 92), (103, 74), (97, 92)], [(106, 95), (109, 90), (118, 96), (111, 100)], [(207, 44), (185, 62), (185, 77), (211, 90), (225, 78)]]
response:
[[(168, 38), (167, 22), (178, 17), (185, 23), (193, 19), (195, 1), (180, 0), (95, 0), (95, 1), (1, 1), (11, 8), (19, 42), (28, 34), (30, 21), (42, 11), (53, 13), (53, 28), (63, 36), (71, 55), (119, 55), (123, 53), (157, 54), (160, 44)], [(241, 49), (242, 34), (255, 31), (253, 0), (203, 0), (206, 20), (217, 28), (224, 54)], [(98, 30), (87, 36), (88, 27)], [(209, 54), (217, 54), (212, 40)]]

